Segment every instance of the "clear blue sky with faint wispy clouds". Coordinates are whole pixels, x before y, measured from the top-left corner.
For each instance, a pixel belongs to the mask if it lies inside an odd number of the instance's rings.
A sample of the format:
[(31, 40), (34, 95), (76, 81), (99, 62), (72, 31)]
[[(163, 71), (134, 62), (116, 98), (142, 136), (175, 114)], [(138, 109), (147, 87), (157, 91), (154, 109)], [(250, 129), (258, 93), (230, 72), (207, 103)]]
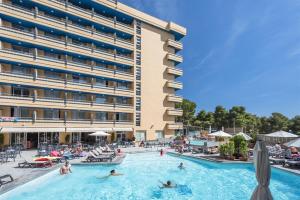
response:
[(300, 1), (121, 2), (188, 29), (180, 94), (198, 110), (243, 105), (260, 116), (300, 114)]

